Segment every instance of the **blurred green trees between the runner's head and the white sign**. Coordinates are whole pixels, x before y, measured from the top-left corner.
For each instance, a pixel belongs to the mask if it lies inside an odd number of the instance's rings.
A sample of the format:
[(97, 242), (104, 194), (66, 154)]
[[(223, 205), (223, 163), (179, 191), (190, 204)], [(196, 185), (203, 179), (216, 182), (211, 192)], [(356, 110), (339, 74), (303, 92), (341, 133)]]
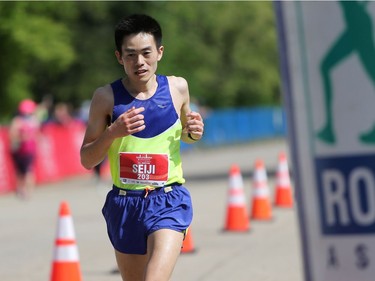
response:
[(162, 2), (160, 69), (211, 107), (280, 104), (272, 2)]

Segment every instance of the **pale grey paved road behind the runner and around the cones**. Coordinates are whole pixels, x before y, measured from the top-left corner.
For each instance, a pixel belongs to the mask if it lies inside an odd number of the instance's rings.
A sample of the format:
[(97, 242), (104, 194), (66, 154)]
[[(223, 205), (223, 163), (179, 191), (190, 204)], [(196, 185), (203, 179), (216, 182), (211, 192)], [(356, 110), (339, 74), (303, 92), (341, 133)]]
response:
[[(182, 254), (173, 281), (302, 281), (299, 232), (294, 209), (273, 208), (273, 220), (250, 221), (250, 231), (224, 232), (228, 171), (238, 164), (251, 205), (255, 159), (272, 172), (283, 140), (183, 154), (187, 187), (194, 203), (191, 228), (194, 253)], [(13, 194), (0, 197), (0, 280), (49, 280), (60, 202), (69, 203), (84, 281), (119, 281), (101, 207), (109, 182), (89, 176), (39, 186), (29, 201)], [(273, 178), (269, 178), (271, 194)]]

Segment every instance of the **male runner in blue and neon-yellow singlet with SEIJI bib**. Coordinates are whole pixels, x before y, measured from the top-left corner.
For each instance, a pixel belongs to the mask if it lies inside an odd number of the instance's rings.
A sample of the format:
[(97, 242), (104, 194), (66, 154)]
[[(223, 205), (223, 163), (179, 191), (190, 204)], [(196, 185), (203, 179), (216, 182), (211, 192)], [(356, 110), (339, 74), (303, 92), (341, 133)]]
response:
[(81, 162), (91, 169), (108, 154), (103, 215), (123, 280), (167, 281), (193, 215), (180, 141), (201, 139), (204, 124), (186, 80), (156, 74), (164, 51), (156, 20), (121, 20), (115, 42), (125, 77), (94, 92)]

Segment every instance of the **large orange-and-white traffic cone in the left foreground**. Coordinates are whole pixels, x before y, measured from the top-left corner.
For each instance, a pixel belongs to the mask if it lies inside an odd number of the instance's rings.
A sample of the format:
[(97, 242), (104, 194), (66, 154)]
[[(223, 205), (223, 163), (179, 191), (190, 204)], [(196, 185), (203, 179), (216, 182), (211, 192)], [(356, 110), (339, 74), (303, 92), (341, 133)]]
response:
[(81, 281), (73, 219), (68, 203), (60, 204), (51, 281)]

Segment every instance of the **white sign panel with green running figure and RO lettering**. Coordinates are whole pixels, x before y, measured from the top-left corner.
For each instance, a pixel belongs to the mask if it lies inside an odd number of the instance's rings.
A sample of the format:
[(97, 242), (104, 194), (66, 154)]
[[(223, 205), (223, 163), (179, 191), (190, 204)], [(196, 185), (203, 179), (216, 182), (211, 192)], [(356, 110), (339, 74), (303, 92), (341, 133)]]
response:
[(305, 280), (375, 280), (375, 2), (275, 3)]

